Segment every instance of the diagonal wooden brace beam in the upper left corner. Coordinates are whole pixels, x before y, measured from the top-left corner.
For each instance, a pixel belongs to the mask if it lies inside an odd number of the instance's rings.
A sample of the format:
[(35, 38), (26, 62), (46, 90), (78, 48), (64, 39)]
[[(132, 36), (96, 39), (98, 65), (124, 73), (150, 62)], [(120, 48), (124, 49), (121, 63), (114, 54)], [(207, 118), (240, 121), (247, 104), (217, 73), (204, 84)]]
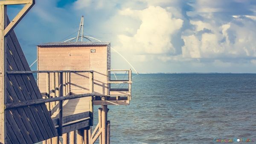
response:
[[(10, 0), (9, 0), (10, 1)], [(9, 23), (9, 25), (4, 29), (4, 36), (7, 36), (12, 30), (17, 26), (20, 20), (29, 12), (29, 10), (34, 6), (35, 0), (29, 0), (31, 3), (27, 3), (20, 12), (14, 17), (14, 19)]]

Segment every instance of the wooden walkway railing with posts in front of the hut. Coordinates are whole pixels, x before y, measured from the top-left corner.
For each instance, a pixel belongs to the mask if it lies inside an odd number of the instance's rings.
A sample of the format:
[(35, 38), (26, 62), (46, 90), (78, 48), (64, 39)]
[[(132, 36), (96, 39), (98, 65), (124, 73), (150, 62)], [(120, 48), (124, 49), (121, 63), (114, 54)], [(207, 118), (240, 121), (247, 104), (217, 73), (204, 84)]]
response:
[[(70, 73), (79, 73), (79, 72), (88, 72), (89, 73), (89, 93), (80, 94), (80, 95), (71, 95), (70, 89)], [(90, 97), (90, 126), (93, 125), (93, 96), (95, 96), (93, 92), (93, 71), (9, 71), (7, 74), (33, 74), (33, 73), (46, 73), (46, 92), (43, 92), (43, 99), (31, 100), (31, 101), (22, 101), (18, 103), (6, 104), (5, 109), (13, 109), (17, 107), (25, 107), (35, 104), (43, 104), (47, 105), (47, 109), (49, 110), (50, 115), (58, 109), (58, 118), (54, 118), (53, 121), (55, 126), (58, 126), (58, 135), (62, 135), (62, 124), (63, 122), (63, 101), (70, 100), (75, 98), (84, 98)], [(52, 74), (52, 90), (50, 85), (50, 74)], [(65, 86), (65, 89), (64, 89)], [(58, 102), (58, 103), (57, 103)], [(69, 118), (68, 121), (76, 121), (77, 118), (81, 118), (81, 115), (77, 115), (76, 117)], [(66, 118), (67, 119), (67, 118)], [(57, 121), (57, 122), (56, 122)]]

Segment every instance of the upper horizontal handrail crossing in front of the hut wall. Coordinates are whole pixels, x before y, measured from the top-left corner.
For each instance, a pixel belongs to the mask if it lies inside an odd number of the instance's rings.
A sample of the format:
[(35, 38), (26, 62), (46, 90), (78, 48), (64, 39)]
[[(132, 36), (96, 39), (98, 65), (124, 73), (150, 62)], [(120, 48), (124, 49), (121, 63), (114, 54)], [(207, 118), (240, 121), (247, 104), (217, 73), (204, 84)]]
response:
[(7, 71), (7, 74), (31, 74), (31, 73), (52, 73), (52, 72), (93, 72), (93, 70), (76, 71), (76, 70), (46, 70), (46, 71)]

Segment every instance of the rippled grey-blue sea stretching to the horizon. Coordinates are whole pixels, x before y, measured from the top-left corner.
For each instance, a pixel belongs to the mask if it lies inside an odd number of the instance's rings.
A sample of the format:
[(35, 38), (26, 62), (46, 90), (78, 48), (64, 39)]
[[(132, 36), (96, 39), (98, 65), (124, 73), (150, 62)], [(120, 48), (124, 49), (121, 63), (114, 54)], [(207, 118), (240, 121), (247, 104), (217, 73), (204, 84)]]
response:
[(130, 105), (108, 106), (111, 144), (256, 143), (256, 74), (134, 76)]

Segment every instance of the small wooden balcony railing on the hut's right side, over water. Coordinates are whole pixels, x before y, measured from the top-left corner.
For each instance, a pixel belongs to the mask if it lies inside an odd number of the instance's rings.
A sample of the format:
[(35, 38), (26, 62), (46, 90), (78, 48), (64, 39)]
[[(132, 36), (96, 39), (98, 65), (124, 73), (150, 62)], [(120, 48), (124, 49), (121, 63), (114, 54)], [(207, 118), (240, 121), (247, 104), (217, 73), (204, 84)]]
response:
[[(111, 72), (128, 72), (128, 79), (127, 80), (111, 80)], [(108, 96), (109, 97), (116, 97), (116, 100), (119, 100), (120, 97), (127, 97), (128, 101), (131, 101), (131, 70), (108, 70)], [(111, 88), (111, 84), (128, 84), (128, 89), (123, 88)], [(112, 95), (111, 92), (117, 92), (117, 94)]]

